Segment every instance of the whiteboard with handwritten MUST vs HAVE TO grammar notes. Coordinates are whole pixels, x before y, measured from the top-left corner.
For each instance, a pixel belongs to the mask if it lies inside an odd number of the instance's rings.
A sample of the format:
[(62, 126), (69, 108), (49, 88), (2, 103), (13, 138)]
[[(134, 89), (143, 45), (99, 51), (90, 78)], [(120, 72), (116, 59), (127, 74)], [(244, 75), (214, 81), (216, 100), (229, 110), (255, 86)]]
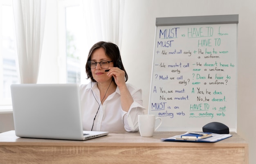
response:
[(157, 18), (148, 114), (162, 118), (159, 131), (202, 131), (209, 122), (236, 131), (238, 15), (231, 16)]

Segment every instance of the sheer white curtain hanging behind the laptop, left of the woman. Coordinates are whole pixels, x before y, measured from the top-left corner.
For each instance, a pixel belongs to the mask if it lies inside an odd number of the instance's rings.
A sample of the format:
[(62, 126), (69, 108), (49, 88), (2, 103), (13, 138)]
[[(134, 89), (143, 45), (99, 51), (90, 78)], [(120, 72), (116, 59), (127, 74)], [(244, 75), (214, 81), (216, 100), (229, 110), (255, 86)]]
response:
[(20, 83), (37, 83), (46, 0), (13, 0)]

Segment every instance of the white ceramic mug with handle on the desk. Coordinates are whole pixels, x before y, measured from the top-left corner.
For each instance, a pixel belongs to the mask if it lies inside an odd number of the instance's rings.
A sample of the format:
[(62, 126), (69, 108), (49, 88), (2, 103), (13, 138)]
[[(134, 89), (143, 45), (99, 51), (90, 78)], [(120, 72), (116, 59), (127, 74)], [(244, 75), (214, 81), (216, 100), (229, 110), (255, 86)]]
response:
[[(155, 127), (155, 120), (159, 119), (160, 123)], [(162, 118), (155, 117), (153, 114), (138, 116), (139, 133), (142, 137), (152, 137), (154, 132), (161, 126)]]

